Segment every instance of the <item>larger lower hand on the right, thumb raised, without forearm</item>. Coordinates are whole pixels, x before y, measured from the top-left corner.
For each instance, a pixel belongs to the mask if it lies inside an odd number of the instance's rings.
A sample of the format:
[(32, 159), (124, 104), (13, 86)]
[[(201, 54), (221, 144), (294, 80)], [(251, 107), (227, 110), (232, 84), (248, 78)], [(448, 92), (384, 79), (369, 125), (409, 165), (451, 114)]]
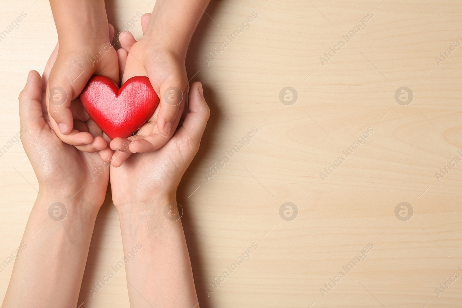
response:
[(153, 200), (175, 198), (182, 175), (199, 150), (210, 115), (200, 82), (191, 85), (188, 98), (188, 113), (182, 126), (163, 147), (149, 153), (134, 153), (118, 168), (111, 165), (112, 200), (116, 207), (150, 207)]

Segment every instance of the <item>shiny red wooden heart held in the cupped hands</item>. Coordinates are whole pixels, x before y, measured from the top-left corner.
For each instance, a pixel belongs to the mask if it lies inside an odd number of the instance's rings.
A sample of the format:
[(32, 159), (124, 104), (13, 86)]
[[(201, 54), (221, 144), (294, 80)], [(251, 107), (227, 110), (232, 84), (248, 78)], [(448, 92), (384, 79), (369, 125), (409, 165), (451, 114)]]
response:
[(120, 89), (105, 76), (93, 76), (80, 101), (97, 126), (114, 139), (131, 136), (149, 120), (159, 97), (146, 76), (132, 77)]

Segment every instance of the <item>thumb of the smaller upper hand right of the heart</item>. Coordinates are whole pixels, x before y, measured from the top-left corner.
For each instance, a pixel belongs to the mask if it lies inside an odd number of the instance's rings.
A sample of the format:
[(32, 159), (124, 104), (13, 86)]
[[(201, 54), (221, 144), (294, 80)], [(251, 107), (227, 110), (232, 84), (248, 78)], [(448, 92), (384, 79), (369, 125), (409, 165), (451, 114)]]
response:
[(176, 129), (173, 122), (176, 120), (178, 113), (182, 112), (184, 108), (187, 89), (188, 81), (182, 80), (182, 72), (179, 71), (174, 72), (172, 77), (165, 80), (160, 86), (159, 93), (161, 97), (159, 97), (160, 109), (157, 115), (157, 127), (159, 133), (164, 136), (169, 135), (170, 131), (175, 131)]

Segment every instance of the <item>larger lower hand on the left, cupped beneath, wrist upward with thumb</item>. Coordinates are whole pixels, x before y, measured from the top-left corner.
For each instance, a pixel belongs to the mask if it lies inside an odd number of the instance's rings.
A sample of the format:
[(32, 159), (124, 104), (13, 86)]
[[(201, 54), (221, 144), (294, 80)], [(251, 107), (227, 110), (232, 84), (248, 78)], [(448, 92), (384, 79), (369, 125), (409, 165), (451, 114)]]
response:
[[(82, 152), (58, 137), (59, 133), (56, 133), (50, 121), (45, 100), (49, 73), (57, 54), (58, 46), (51, 54), (42, 78), (36, 71), (29, 72), (27, 83), (19, 95), (21, 141), (35, 171), (42, 196), (82, 201), (81, 204), (99, 209), (108, 186), (107, 161), (112, 151), (106, 148), (98, 153)], [(89, 119), (79, 101), (73, 101), (69, 108), (74, 118), (79, 119), (75, 123), (80, 123), (77, 126), (81, 129), (99, 129)]]

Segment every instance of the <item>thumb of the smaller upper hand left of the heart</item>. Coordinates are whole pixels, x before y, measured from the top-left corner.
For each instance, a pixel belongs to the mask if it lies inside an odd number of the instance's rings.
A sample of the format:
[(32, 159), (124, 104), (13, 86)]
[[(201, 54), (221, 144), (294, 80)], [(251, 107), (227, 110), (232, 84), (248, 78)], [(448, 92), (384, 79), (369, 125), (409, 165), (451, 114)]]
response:
[(95, 71), (95, 66), (84, 63), (85, 60), (74, 56), (67, 57), (65, 60), (56, 60), (51, 69), (46, 102), (50, 116), (55, 120), (56, 126), (62, 134), (68, 134), (73, 128), (73, 116), (69, 109), (71, 101), (79, 96), (91, 75)]

